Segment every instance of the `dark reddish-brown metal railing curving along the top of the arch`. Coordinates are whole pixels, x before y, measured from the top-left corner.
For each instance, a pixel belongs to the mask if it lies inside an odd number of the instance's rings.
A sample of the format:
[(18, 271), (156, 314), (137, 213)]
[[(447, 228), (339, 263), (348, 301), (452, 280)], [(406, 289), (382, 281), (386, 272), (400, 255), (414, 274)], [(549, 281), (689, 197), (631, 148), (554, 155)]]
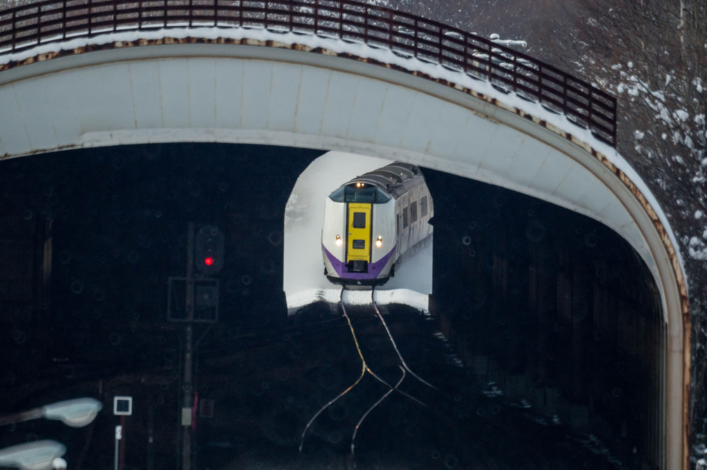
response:
[(389, 49), (490, 81), (616, 145), (617, 103), (608, 93), (478, 35), (356, 0), (45, 0), (0, 11), (0, 55), (117, 31), (201, 27), (264, 28)]

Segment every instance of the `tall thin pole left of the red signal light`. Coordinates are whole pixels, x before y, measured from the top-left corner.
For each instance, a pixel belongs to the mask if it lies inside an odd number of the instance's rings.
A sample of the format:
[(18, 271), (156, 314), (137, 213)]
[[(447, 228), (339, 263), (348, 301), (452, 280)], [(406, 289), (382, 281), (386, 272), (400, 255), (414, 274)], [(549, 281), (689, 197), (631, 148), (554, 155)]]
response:
[(182, 470), (192, 468), (192, 343), (194, 341), (194, 223), (187, 228), (187, 322), (184, 348), (184, 397), (182, 399)]

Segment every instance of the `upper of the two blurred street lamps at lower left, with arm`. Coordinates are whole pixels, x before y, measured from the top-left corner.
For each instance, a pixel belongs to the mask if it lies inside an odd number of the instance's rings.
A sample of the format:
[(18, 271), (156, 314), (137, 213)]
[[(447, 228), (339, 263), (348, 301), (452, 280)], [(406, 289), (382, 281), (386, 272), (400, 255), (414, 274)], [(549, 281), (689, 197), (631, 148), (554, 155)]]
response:
[(41, 408), (0, 416), (0, 425), (21, 423), (23, 421), (46, 418), (60, 420), (71, 428), (83, 428), (95, 418), (103, 404), (95, 399), (74, 399), (59, 401)]

